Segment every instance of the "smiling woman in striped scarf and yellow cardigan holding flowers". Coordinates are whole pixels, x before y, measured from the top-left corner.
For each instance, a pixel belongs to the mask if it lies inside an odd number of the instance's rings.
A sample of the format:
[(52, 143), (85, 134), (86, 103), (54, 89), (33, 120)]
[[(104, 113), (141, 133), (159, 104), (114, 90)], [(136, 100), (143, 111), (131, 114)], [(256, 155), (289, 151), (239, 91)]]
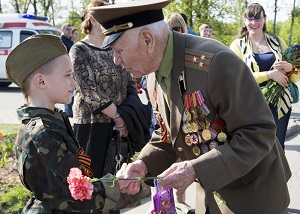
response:
[[(230, 48), (248, 65), (260, 87), (264, 87), (268, 80), (274, 80), (285, 87), (289, 80), (292, 82), (299, 80), (298, 72), (292, 64), (282, 61), (282, 54), (286, 51), (287, 45), (283, 39), (267, 32), (266, 21), (264, 8), (258, 3), (250, 4), (244, 12), (244, 26)], [(272, 104), (269, 106), (277, 126), (276, 136), (284, 149), (292, 111), (289, 91), (286, 90), (281, 100), (279, 106)]]

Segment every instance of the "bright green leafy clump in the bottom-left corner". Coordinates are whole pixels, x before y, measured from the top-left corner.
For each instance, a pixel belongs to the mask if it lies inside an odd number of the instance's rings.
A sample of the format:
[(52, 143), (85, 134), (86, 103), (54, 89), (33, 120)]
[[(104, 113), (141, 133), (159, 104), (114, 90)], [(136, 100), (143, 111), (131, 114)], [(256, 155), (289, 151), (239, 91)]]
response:
[(0, 194), (0, 210), (7, 214), (18, 214), (31, 197), (31, 192), (22, 184), (10, 186)]

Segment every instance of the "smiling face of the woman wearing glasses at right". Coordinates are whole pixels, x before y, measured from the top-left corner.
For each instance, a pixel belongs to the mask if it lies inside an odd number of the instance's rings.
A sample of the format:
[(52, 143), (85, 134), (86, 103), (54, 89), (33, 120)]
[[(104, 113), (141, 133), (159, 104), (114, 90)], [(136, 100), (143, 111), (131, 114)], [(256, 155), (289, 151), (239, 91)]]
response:
[(260, 34), (263, 32), (266, 17), (264, 17), (263, 12), (261, 12), (259, 17), (245, 17), (244, 22), (249, 34)]

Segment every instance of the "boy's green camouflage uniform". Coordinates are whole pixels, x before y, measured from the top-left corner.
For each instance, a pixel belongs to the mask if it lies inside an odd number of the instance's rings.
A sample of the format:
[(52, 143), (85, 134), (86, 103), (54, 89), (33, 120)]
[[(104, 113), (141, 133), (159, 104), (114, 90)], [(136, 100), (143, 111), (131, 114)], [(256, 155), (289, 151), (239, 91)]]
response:
[(18, 116), (22, 127), (15, 144), (17, 168), (21, 181), (34, 195), (23, 213), (89, 211), (102, 209), (105, 197), (118, 200), (118, 185), (111, 188), (110, 183), (101, 182), (93, 183), (91, 200), (71, 197), (66, 178), (72, 167), (83, 166), (76, 157), (79, 146), (65, 113), (22, 107)]

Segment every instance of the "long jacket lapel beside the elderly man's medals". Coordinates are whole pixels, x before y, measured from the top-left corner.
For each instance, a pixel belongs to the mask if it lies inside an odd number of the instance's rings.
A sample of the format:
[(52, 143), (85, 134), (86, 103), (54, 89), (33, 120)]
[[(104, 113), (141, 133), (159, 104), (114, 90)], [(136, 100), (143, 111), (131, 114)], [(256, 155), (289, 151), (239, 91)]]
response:
[[(172, 127), (172, 141), (175, 142), (181, 127), (181, 118), (184, 112), (183, 94), (179, 87), (179, 77), (182, 73), (185, 75), (185, 39), (181, 37), (180, 33), (173, 32), (173, 36), (174, 53), (170, 90), (170, 127)], [(185, 81), (185, 79), (183, 81)]]

